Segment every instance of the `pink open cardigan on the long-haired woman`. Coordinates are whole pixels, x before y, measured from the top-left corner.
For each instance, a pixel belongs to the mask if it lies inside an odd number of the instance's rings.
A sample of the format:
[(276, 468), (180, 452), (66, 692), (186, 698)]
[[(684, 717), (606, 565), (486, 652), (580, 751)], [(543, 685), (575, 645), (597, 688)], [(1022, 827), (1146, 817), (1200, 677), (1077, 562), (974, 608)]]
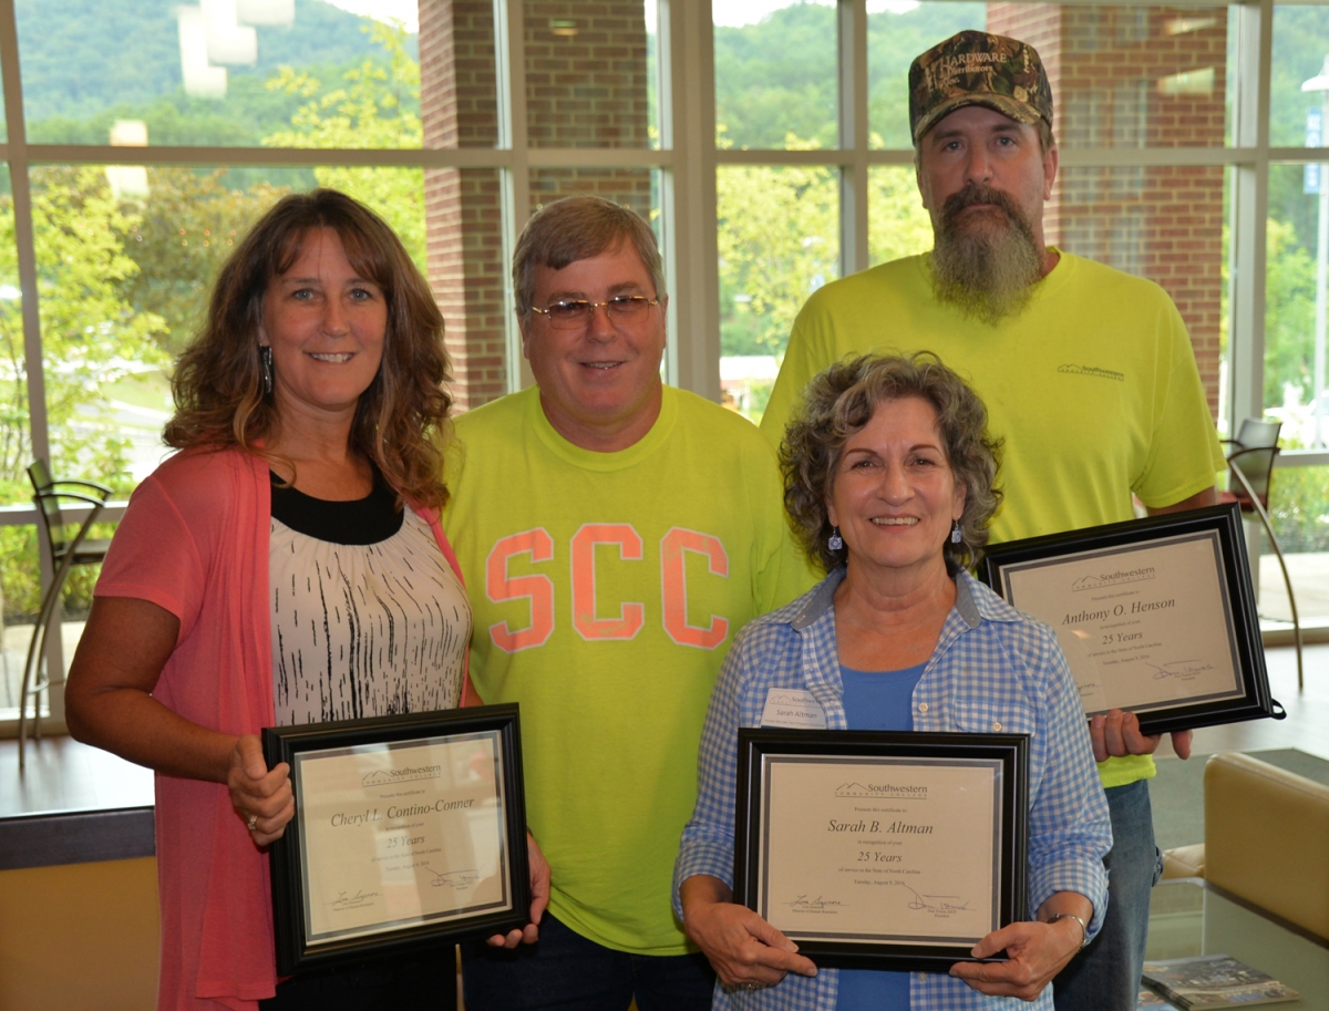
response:
[[(439, 517), (429, 522), (461, 578)], [(153, 696), (202, 727), (271, 727), (268, 600), (271, 489), (263, 460), (187, 450), (134, 492), (97, 597), (150, 600), (179, 618)], [(474, 697), (466, 676), (462, 697)], [(161, 1011), (253, 1011), (276, 986), (267, 853), (254, 846), (225, 784), (157, 775)]]

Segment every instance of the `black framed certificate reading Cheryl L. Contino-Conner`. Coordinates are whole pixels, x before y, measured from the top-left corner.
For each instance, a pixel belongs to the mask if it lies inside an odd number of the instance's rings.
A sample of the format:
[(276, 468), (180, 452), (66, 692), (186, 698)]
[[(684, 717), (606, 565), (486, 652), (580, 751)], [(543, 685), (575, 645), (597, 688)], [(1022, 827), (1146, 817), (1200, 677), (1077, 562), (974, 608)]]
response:
[(278, 975), (524, 926), (516, 705), (263, 731), (291, 767), (272, 844)]

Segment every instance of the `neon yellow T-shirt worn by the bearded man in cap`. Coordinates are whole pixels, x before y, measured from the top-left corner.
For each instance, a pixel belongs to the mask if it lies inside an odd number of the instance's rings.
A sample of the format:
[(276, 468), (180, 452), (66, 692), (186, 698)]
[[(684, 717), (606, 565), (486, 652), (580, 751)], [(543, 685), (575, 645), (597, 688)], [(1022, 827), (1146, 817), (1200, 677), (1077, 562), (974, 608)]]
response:
[[(1134, 518), (1225, 468), (1180, 314), (1148, 280), (1066, 252), (1029, 306), (993, 327), (932, 294), (928, 256), (820, 288), (799, 314), (762, 430), (777, 442), (817, 372), (864, 352), (932, 351), (987, 405), (1005, 440), (994, 543)], [(1104, 786), (1154, 775), (1148, 756), (1099, 767)]]

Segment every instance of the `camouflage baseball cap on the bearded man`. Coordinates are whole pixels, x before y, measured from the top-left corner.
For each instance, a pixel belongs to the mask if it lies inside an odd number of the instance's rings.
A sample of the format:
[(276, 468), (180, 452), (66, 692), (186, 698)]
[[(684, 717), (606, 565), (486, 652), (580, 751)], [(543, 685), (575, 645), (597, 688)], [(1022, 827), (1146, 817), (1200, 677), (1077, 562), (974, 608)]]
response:
[(1017, 122), (1053, 125), (1053, 89), (1034, 46), (986, 32), (961, 32), (909, 66), (914, 143), (944, 116), (983, 105)]

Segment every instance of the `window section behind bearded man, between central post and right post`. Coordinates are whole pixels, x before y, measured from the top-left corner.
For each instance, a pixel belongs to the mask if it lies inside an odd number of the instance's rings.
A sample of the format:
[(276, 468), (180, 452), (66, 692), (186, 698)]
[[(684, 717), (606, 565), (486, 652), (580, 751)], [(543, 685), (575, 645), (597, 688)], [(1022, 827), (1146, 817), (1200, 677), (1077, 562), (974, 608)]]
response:
[(1053, 82), (1063, 169), (1050, 242), (1168, 290), (1217, 412), (1239, 39), (1227, 7), (768, 0), (712, 12), (720, 345), (751, 372), (743, 387), (740, 363), (726, 369), (740, 409), (759, 414), (771, 369), (759, 356), (780, 357), (816, 286), (930, 248), (908, 69), (954, 32), (985, 29), (1037, 45)]

